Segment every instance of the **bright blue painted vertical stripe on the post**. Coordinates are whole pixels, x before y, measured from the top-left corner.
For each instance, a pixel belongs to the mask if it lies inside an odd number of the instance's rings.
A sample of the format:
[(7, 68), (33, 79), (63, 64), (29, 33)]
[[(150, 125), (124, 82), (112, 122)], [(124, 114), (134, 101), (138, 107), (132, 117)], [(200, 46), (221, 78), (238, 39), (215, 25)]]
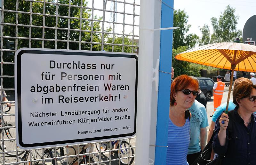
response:
[[(162, 0), (173, 7), (173, 0)], [(173, 9), (162, 3), (161, 28), (173, 26)], [(162, 30), (160, 35), (159, 70), (171, 73), (172, 67), (172, 32)], [(168, 118), (170, 106), (171, 74), (159, 72), (156, 146), (167, 146)], [(166, 164), (166, 147), (156, 147), (155, 165)]]

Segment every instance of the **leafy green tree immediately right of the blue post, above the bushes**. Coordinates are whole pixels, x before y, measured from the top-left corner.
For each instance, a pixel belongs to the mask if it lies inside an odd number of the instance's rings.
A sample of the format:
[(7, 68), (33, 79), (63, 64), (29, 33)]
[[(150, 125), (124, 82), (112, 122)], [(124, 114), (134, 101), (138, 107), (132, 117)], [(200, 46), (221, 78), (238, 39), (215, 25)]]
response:
[(188, 23), (188, 15), (183, 10), (174, 10), (173, 12), (173, 27), (180, 27), (173, 30), (173, 44), (174, 49), (180, 46), (188, 48), (195, 47), (199, 37), (196, 34), (187, 34), (191, 25)]

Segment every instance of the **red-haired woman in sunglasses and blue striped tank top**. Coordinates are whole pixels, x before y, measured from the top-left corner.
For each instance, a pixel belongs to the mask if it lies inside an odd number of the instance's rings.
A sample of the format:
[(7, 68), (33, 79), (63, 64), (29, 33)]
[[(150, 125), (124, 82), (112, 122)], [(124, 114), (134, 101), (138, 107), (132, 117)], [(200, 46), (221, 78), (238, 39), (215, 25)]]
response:
[(190, 112), (198, 95), (198, 81), (188, 75), (180, 75), (171, 85), (168, 122), (167, 165), (188, 165), (187, 153), (190, 140)]

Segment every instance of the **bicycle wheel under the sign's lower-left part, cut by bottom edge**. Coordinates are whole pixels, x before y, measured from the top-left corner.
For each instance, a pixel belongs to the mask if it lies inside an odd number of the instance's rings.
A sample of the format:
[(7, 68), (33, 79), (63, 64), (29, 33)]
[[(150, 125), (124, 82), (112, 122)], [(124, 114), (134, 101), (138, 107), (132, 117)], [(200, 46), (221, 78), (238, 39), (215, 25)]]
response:
[[(30, 154), (30, 152), (31, 152), (31, 154)], [(29, 162), (24, 163), (24, 165), (43, 165), (43, 161), (44, 161), (45, 165), (51, 165), (51, 164), (55, 165), (54, 159), (35, 161), (38, 159), (43, 159), (42, 149), (26, 151), (24, 157), (25, 157), (24, 161), (29, 161)], [(46, 158), (53, 158), (52, 149), (44, 150), (44, 159), (46, 159)], [(31, 162), (30, 162), (30, 160), (31, 160)]]

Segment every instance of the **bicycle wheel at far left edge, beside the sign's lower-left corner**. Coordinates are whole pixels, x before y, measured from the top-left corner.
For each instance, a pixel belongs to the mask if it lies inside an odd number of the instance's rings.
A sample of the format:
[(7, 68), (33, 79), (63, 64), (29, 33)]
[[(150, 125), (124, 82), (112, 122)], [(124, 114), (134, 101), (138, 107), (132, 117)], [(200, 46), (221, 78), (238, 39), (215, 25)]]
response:
[[(12, 125), (6, 125), (6, 126), (12, 126)], [(4, 131), (4, 151), (14, 151), (16, 150), (16, 140), (9, 140), (15, 138), (15, 128), (5, 128), (2, 131)], [(2, 133), (0, 133), (1, 139), (2, 139)], [(2, 140), (1, 140), (2, 141)], [(0, 142), (0, 149), (2, 149), (3, 145), (2, 142)], [(20, 150), (20, 148), (18, 148)], [(25, 151), (18, 152), (18, 155), (23, 154)], [(9, 156), (16, 157), (16, 152), (7, 152), (6, 153)]]

